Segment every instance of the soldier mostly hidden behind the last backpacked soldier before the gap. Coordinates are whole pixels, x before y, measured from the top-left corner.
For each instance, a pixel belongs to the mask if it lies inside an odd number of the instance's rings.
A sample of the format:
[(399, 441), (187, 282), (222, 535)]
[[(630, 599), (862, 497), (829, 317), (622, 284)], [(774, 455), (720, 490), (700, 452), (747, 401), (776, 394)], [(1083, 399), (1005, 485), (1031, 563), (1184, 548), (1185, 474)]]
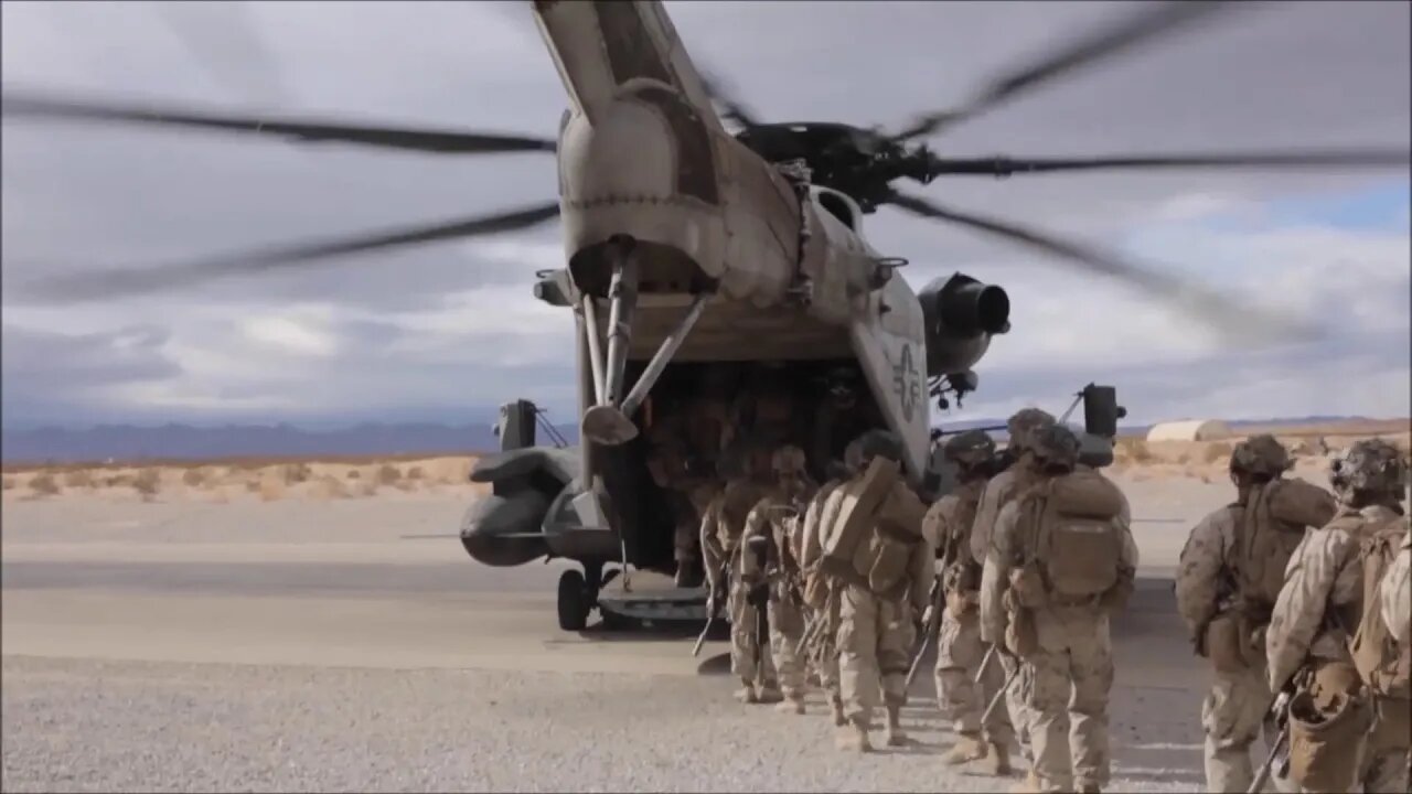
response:
[[(1010, 432), (1010, 446), (1005, 451), (1010, 466), (990, 479), (981, 490), (980, 503), (976, 506), (976, 523), (971, 527), (970, 548), (971, 557), (984, 564), (991, 547), (991, 534), (995, 530), (995, 520), (1001, 509), (1008, 504), (1019, 492), (1038, 479), (1034, 470), (1034, 456), (1029, 455), (1029, 437), (1045, 427), (1055, 424), (1055, 418), (1039, 408), (1024, 408), (1017, 411), (1007, 422)], [(1004, 637), (987, 634), (986, 605), (981, 603), (980, 639), (988, 646), (1000, 644)], [(1005, 708), (1010, 712), (1010, 722), (1015, 729), (1015, 739), (1019, 743), (1019, 753), (1025, 759), (1025, 766), (1032, 766), (1034, 753), (1029, 746), (1029, 719), (1025, 711), (1025, 691), (1029, 687), (1029, 671), (1019, 665), (1019, 661), (1010, 654), (1000, 656), (1005, 680), (1011, 681), (1005, 688)], [(1017, 672), (1018, 665), (1018, 672)], [(1029, 771), (1028, 781), (1035, 786), (1034, 770)]]

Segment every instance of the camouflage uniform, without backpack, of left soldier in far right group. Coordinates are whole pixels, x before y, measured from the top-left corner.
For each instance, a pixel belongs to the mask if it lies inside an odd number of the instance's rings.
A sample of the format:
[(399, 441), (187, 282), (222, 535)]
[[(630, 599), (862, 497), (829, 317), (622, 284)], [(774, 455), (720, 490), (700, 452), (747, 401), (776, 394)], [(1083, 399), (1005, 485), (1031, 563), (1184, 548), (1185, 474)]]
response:
[[(1206, 634), (1217, 616), (1238, 613), (1241, 626), (1252, 632), (1265, 629), (1267, 610), (1272, 605), (1247, 603), (1238, 586), (1241, 520), (1251, 489), (1261, 487), (1257, 483), (1279, 479), (1289, 468), (1289, 452), (1274, 437), (1257, 435), (1238, 444), (1230, 459), (1231, 479), (1237, 486), (1236, 503), (1203, 519), (1182, 548), (1175, 582), (1176, 605), (1200, 656), (1211, 658)], [(1329, 496), (1329, 503), (1332, 513), (1333, 496)], [(1254, 637), (1258, 633), (1243, 639)], [(1268, 718), (1274, 694), (1265, 682), (1264, 647), (1248, 646), (1248, 650), (1257, 651), (1258, 664), (1250, 663), (1238, 671), (1213, 665), (1211, 691), (1202, 702), (1207, 791), (1250, 788), (1254, 781), (1251, 743), (1262, 728), (1269, 740), (1276, 733), (1274, 721)]]

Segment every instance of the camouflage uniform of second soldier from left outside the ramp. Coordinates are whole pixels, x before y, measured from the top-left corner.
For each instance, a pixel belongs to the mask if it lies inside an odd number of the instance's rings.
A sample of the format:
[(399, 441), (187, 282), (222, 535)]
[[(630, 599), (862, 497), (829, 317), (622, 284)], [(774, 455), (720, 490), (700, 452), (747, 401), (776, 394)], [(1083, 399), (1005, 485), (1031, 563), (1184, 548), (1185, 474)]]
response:
[[(803, 451), (779, 448), (771, 461), (775, 486), (750, 510), (743, 543), (743, 581), (747, 588), (768, 589), (770, 650), (786, 702), (781, 711), (803, 713), (805, 663), (796, 653), (803, 639), (803, 592), (801, 581), (799, 513), (813, 496), (815, 486), (805, 473)], [(761, 569), (753, 544), (762, 544), (765, 568)]]

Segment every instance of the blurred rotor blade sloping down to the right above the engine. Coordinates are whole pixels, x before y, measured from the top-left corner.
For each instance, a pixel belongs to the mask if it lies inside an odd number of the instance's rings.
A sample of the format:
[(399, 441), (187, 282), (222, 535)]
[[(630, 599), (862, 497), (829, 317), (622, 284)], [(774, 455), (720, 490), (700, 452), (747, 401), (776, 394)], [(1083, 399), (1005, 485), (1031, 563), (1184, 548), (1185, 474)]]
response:
[(1199, 284), (1178, 278), (1168, 273), (1147, 270), (1123, 261), (1113, 254), (1103, 253), (1079, 243), (1062, 240), (1034, 229), (994, 220), (980, 215), (943, 209), (928, 199), (905, 194), (894, 192), (892, 196), (888, 198), (888, 203), (897, 205), (914, 215), (957, 223), (994, 237), (1011, 240), (1073, 263), (1084, 271), (1101, 273), (1137, 285), (1165, 301), (1179, 304), (1183, 309), (1202, 316), (1207, 322), (1220, 326), (1224, 332), (1233, 333), (1247, 343), (1254, 338), (1309, 339), (1317, 333), (1315, 328), (1292, 322), (1288, 318), (1269, 316), (1268, 314), (1261, 316), (1261, 312), (1257, 308), (1250, 305), (1237, 305)]

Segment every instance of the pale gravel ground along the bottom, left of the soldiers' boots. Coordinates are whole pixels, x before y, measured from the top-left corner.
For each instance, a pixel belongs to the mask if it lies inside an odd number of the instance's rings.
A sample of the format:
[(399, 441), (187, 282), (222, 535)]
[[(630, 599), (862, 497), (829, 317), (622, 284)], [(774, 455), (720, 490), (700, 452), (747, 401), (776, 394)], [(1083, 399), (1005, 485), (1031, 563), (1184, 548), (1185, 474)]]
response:
[[(391, 671), (7, 657), (6, 791), (1001, 791), (918, 746), (839, 753), (822, 706), (775, 713), (726, 677)], [(1114, 790), (1199, 787), (1196, 702), (1115, 692)], [(1137, 722), (1141, 722), (1141, 729)]]

